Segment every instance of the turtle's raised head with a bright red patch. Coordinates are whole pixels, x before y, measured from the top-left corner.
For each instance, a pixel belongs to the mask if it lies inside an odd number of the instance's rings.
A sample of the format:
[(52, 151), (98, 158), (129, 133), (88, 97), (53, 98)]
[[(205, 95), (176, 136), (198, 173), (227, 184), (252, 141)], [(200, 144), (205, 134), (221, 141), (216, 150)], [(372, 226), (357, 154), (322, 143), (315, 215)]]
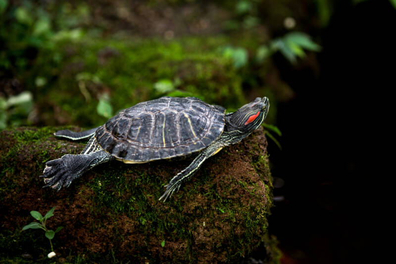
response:
[(249, 104), (242, 106), (230, 116), (230, 122), (238, 130), (250, 133), (260, 127), (267, 116), (269, 100), (257, 97)]

